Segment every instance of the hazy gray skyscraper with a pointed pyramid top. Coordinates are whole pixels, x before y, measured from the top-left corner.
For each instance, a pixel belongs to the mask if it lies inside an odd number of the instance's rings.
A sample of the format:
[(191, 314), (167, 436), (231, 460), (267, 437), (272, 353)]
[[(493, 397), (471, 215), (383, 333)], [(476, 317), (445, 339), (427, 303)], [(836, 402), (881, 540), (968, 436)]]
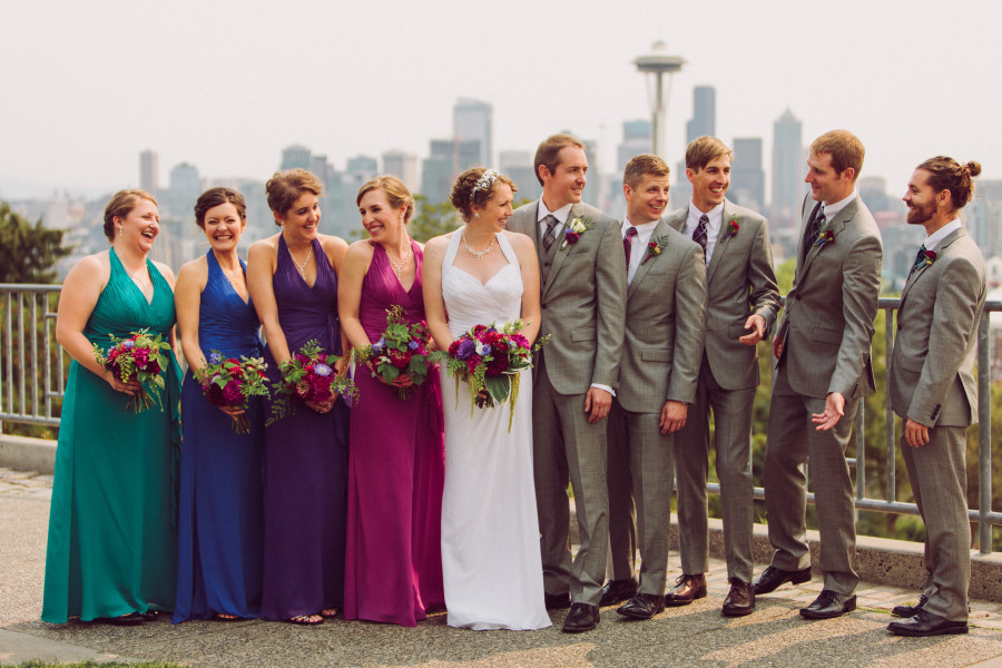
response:
[(773, 124), (773, 214), (775, 227), (796, 227), (804, 202), (804, 145), (800, 121), (787, 108)]

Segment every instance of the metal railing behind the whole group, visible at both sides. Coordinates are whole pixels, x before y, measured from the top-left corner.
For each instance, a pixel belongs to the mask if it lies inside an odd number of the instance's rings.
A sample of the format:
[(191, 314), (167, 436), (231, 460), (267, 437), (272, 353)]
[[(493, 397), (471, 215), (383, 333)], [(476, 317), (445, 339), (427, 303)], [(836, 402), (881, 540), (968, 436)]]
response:
[[(58, 285), (0, 284), (2, 307), (2, 335), (0, 335), (0, 433), (2, 422), (28, 422), (58, 425), (53, 415), (56, 400), (62, 397), (66, 384), (65, 362), (68, 355), (59, 348), (55, 338), (56, 297)], [(881, 298), (880, 310), (885, 317), (885, 344), (890, 353), (894, 345), (894, 311), (897, 298)], [(1002, 512), (992, 511), (992, 458), (991, 458), (991, 363), (989, 358), (990, 314), (1002, 312), (1002, 302), (988, 302), (978, 327), (978, 443), (979, 443), (979, 498), (978, 509), (967, 510), (971, 521), (979, 524), (981, 552), (992, 550), (992, 525), (1002, 525)], [(17, 342), (17, 345), (16, 343)], [(27, 342), (27, 343), (26, 343)], [(41, 355), (39, 351), (41, 350)], [(918, 514), (914, 503), (897, 501), (894, 413), (891, 399), (884, 396), (886, 421), (885, 455), (887, 484), (883, 499), (866, 497), (866, 439), (865, 402), (859, 402), (856, 415), (856, 456), (847, 459), (856, 472), (856, 509), (901, 514)], [(871, 444), (874, 445), (874, 444)], [(719, 484), (709, 483), (709, 491), (719, 493)], [(762, 488), (755, 488), (755, 498), (765, 499)], [(809, 503), (814, 494), (807, 495)]]

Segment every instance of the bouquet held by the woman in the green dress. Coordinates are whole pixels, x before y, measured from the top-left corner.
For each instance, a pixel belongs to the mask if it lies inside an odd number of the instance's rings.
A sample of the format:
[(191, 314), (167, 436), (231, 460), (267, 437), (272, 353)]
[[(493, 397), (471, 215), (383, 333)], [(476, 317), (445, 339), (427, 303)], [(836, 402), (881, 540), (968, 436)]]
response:
[(132, 336), (128, 338), (118, 338), (111, 334), (108, 336), (111, 337), (111, 347), (105, 351), (94, 344), (94, 358), (122, 383), (139, 381), (139, 392), (129, 397), (126, 410), (138, 413), (150, 407), (156, 399), (163, 411), (160, 391), (166, 383), (160, 371), (167, 367), (167, 355), (164, 352), (170, 350), (170, 344), (160, 334), (150, 336), (149, 330), (132, 332)]

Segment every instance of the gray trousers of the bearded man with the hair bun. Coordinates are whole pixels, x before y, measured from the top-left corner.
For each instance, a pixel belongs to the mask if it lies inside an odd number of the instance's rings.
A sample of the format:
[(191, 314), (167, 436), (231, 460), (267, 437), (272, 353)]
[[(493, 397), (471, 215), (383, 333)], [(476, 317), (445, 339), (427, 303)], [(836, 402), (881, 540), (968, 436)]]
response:
[(965, 621), (971, 582), (966, 429), (934, 426), (929, 435), (929, 443), (921, 448), (901, 440), (912, 492), (925, 522), (925, 609), (951, 621)]

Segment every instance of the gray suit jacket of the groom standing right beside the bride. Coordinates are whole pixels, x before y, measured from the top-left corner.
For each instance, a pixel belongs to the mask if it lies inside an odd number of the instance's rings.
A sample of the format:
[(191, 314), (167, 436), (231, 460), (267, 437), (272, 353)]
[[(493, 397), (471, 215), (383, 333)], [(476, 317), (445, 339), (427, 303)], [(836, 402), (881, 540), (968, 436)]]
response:
[[(622, 353), (626, 268), (619, 223), (587, 204), (571, 207), (568, 223), (595, 223), (577, 243), (558, 237), (550, 259), (543, 253), (537, 222), (539, 202), (519, 207), (508, 229), (529, 236), (539, 253), (539, 335), (551, 336), (544, 355), (557, 392), (584, 394), (592, 383), (616, 389)], [(566, 229), (566, 228), (564, 228)]]

